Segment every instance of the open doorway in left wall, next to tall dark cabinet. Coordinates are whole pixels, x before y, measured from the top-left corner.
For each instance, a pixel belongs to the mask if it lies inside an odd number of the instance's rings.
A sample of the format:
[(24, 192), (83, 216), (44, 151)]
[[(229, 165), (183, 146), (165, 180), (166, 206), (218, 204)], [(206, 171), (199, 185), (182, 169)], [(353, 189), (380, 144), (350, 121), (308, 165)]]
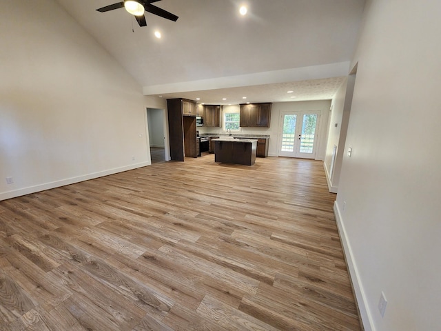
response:
[(152, 163), (166, 161), (165, 145), (165, 111), (147, 108), (147, 123), (150, 141), (150, 157)]

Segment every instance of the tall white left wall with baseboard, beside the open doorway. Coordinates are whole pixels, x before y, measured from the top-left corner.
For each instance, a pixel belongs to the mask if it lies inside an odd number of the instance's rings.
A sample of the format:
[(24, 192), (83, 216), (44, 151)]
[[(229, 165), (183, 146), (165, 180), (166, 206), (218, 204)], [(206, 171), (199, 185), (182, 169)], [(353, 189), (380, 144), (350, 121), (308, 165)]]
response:
[(0, 199), (150, 164), (161, 102), (57, 3), (1, 1), (0, 40)]

